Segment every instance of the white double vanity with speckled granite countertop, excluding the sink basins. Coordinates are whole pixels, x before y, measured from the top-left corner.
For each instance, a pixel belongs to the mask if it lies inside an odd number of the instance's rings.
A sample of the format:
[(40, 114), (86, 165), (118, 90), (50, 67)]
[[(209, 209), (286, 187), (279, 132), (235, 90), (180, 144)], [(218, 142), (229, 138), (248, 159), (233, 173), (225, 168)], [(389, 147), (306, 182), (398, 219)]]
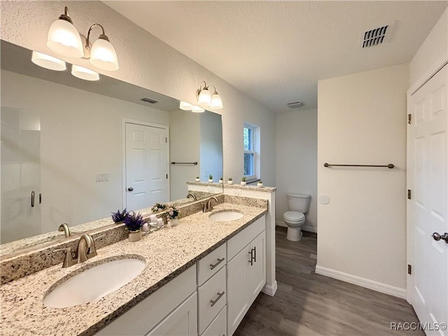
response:
[[(267, 202), (253, 203), (224, 202), (136, 243), (125, 239), (100, 248), (82, 264), (6, 283), (0, 287), (2, 335), (232, 335), (266, 281)], [(211, 214), (225, 210), (244, 216), (211, 221)], [(45, 295), (68, 277), (120, 258), (143, 259), (146, 267), (87, 304), (44, 306)]]

